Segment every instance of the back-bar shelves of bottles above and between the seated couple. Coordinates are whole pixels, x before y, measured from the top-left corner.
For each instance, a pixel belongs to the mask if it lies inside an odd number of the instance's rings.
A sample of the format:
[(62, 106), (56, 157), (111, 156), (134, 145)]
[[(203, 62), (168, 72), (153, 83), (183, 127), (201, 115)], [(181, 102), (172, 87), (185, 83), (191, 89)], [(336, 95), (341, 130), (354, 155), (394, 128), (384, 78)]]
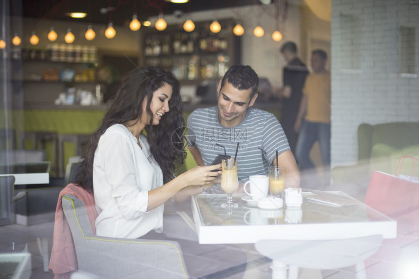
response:
[(162, 33), (146, 33), (146, 65), (169, 70), (180, 81), (222, 77), (229, 66), (239, 63), (240, 39), (232, 33), (232, 20), (219, 22), (222, 30), (217, 34), (210, 32), (210, 22), (195, 23), (190, 33), (180, 26), (168, 27)]

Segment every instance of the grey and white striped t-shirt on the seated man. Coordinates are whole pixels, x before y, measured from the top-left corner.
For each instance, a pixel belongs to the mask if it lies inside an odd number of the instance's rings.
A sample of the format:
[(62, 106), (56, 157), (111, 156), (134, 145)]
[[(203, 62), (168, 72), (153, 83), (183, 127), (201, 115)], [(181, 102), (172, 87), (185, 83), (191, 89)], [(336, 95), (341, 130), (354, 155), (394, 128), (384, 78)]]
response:
[[(193, 134), (195, 136), (193, 136)], [(278, 154), (289, 150), (288, 141), (278, 119), (269, 112), (248, 108), (245, 119), (236, 127), (224, 127), (218, 120), (218, 108), (197, 109), (188, 117), (188, 140), (197, 146), (206, 166), (210, 165), (217, 154), (234, 157), (237, 142), (239, 180), (247, 181), (250, 175), (267, 174), (268, 166), (262, 156), (262, 148), (267, 152), (269, 163)]]

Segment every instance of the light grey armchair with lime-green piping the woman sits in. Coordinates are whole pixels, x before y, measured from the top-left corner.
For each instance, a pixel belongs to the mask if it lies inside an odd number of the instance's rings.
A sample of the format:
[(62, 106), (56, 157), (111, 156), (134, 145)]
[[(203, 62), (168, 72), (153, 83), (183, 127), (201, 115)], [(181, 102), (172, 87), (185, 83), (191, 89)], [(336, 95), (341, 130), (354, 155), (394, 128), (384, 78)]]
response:
[(82, 201), (63, 195), (79, 271), (102, 278), (187, 279), (178, 242), (95, 236)]

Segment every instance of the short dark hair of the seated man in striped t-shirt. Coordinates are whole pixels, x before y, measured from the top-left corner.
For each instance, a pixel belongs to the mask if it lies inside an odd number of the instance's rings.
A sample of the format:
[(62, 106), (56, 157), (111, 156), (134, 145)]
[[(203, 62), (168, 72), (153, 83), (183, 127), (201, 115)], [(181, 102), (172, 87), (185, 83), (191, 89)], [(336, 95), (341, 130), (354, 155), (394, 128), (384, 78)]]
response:
[(236, 64), (231, 66), (221, 80), (221, 88), (223, 88), (227, 80), (229, 84), (238, 90), (247, 90), (251, 88), (252, 93), (250, 94), (250, 99), (253, 98), (258, 91), (258, 74), (256, 74), (249, 65)]

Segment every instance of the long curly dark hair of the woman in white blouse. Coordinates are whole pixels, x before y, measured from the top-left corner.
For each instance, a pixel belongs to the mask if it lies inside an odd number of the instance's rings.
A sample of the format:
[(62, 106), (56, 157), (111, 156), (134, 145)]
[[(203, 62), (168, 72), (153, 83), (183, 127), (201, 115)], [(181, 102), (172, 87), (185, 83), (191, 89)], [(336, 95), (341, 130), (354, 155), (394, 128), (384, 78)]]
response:
[(134, 69), (128, 73), (119, 87), (102, 124), (90, 138), (77, 176), (79, 186), (93, 193), (93, 161), (100, 136), (114, 124), (138, 121), (143, 113), (142, 104), (146, 96), (146, 112), (150, 116), (150, 123), (152, 123), (154, 117), (150, 109), (152, 96), (157, 89), (165, 84), (169, 84), (173, 88), (169, 100), (170, 111), (165, 113), (158, 125), (146, 125), (144, 130), (147, 133), (150, 152), (163, 171), (164, 183), (173, 179), (176, 165), (182, 164), (186, 156), (183, 151), (185, 120), (182, 115), (180, 85), (170, 72), (150, 66)]

